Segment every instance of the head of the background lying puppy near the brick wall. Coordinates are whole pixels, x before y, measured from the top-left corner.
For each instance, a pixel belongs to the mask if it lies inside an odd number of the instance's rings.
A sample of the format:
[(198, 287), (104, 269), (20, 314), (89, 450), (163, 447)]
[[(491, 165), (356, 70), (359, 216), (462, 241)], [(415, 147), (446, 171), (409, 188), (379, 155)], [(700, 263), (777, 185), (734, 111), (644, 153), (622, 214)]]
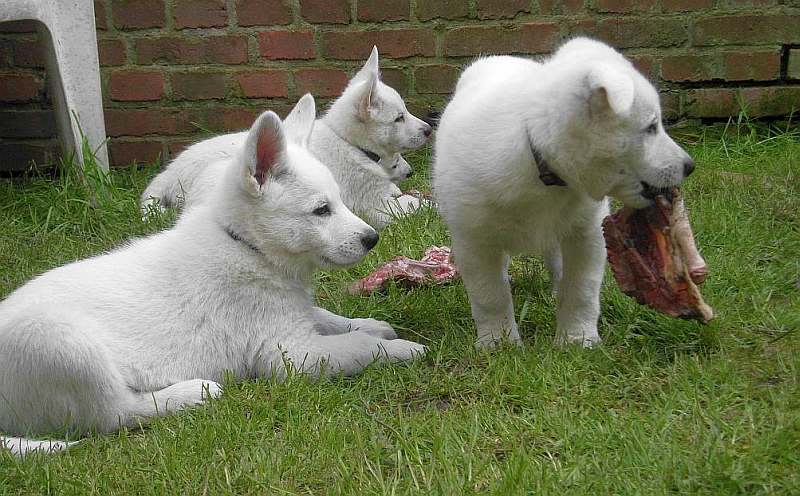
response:
[(352, 136), (355, 144), (381, 156), (415, 150), (431, 135), (431, 126), (409, 112), (397, 91), (381, 82), (376, 47), (340, 100), (358, 123), (350, 127), (357, 135)]

